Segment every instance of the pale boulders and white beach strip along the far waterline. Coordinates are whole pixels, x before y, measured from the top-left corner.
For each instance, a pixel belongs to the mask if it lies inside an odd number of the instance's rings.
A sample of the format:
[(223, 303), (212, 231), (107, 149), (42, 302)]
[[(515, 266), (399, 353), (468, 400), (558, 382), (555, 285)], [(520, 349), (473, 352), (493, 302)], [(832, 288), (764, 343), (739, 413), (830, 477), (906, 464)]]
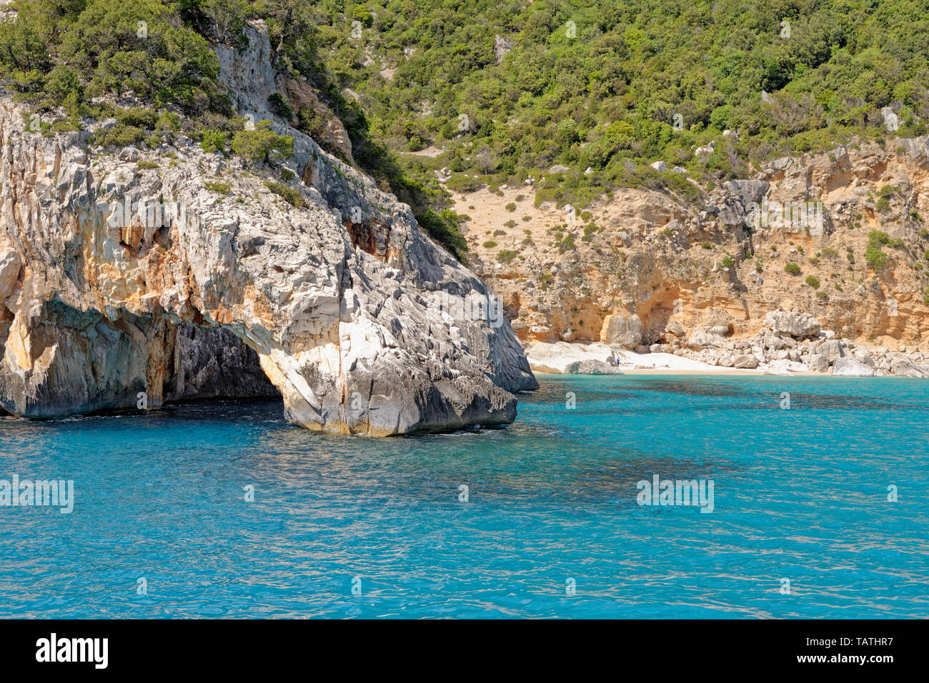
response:
[(731, 372), (767, 375), (929, 378), (929, 352), (919, 348), (873, 348), (839, 339), (800, 311), (772, 311), (761, 330), (736, 339), (723, 326), (694, 330), (687, 336), (674, 321), (659, 342), (627, 347), (606, 343), (530, 342), (525, 345), (535, 372), (617, 374), (630, 370)]

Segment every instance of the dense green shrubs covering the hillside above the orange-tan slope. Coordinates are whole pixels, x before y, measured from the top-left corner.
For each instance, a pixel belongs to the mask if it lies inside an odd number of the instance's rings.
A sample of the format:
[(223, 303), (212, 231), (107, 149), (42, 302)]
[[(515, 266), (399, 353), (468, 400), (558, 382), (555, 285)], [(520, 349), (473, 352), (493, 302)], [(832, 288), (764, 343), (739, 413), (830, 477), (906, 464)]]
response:
[[(748, 163), (883, 135), (929, 115), (929, 5), (922, 0), (391, 0), (317, 5), (318, 84), (360, 96), (373, 136), (449, 187), (546, 176), (537, 200), (583, 204), (675, 174), (726, 177)], [(512, 45), (495, 53), (500, 36)], [(385, 71), (384, 66), (394, 69)], [(764, 93), (764, 94), (763, 94)], [(739, 132), (739, 141), (723, 137)], [(705, 161), (692, 149), (715, 141)], [(554, 164), (569, 174), (550, 174)], [(590, 168), (592, 173), (582, 172)], [(478, 175), (478, 179), (473, 178)]]

